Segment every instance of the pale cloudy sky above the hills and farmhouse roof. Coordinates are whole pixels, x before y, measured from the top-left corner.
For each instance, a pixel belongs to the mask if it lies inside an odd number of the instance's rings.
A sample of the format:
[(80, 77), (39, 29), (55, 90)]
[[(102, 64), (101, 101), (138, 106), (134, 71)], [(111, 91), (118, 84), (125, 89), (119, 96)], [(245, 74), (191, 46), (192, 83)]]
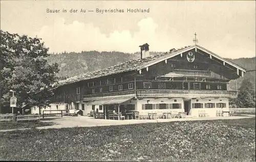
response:
[[(96, 12), (104, 9), (124, 12)], [(196, 32), (221, 57), (255, 57), (255, 24), (254, 1), (1, 1), (1, 30), (37, 36), (51, 53), (134, 53), (144, 43), (165, 52), (193, 45)]]

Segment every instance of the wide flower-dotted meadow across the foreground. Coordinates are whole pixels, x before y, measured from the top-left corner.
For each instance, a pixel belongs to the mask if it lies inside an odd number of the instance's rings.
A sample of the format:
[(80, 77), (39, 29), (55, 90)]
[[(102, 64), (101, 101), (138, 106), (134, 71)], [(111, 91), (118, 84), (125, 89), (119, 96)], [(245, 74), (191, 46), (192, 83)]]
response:
[(255, 161), (255, 118), (1, 132), (1, 160)]

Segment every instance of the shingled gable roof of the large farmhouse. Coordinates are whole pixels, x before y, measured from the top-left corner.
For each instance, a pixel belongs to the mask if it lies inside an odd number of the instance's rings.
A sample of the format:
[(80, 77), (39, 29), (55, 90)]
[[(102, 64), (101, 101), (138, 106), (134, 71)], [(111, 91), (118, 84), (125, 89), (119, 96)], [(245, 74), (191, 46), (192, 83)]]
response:
[[(198, 48), (198, 49), (202, 49), (202, 50), (206, 50), (202, 47), (200, 47), (199, 45), (193, 45), (193, 46), (188, 46), (188, 47), (184, 47), (184, 48), (181, 48), (181, 49), (172, 49), (170, 50), (169, 52), (165, 52), (165, 53), (162, 53), (162, 54), (158, 54), (158, 55), (154, 55), (154, 56), (150, 56), (150, 57), (146, 57), (146, 58), (143, 58), (143, 59), (137, 59), (137, 60), (131, 60), (131, 61), (127, 61), (127, 62), (123, 62), (121, 64), (118, 64), (118, 65), (115, 65), (115, 66), (111, 66), (111, 67), (108, 67), (108, 68), (104, 68), (102, 70), (99, 70), (99, 71), (94, 71), (94, 72), (90, 72), (90, 73), (86, 73), (86, 74), (81, 74), (81, 75), (78, 75), (78, 76), (74, 76), (74, 77), (71, 77), (71, 78), (68, 78), (66, 80), (61, 80), (55, 84), (52, 85), (52, 87), (58, 87), (58, 86), (62, 86), (62, 85), (66, 85), (66, 84), (71, 84), (71, 83), (75, 83), (75, 82), (79, 82), (79, 81), (82, 81), (82, 80), (88, 80), (88, 79), (93, 79), (93, 78), (99, 78), (99, 77), (103, 77), (103, 76), (109, 76), (109, 75), (113, 75), (113, 74), (119, 74), (119, 73), (123, 73), (123, 72), (129, 72), (129, 71), (139, 71), (143, 68), (146, 68), (148, 66), (151, 66), (152, 64), (155, 64), (157, 62), (160, 62), (164, 59), (168, 59), (168, 58), (171, 58), (171, 57), (174, 57), (182, 52), (186, 52), (186, 51), (189, 51), (189, 50), (192, 50), (192, 49), (195, 49), (195, 48)], [(220, 60), (223, 60), (225, 61), (226, 63), (228, 64), (231, 64), (237, 68), (239, 68), (241, 71), (245, 72), (245, 69), (214, 54), (214, 53), (211, 53), (210, 51), (206, 51), (209, 55), (212, 55)]]

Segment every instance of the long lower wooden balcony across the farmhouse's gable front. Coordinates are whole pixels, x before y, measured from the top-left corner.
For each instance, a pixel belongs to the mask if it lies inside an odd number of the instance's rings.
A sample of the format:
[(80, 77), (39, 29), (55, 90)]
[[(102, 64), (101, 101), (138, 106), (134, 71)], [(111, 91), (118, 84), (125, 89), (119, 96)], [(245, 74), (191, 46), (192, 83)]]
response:
[(202, 97), (227, 97), (236, 98), (237, 91), (227, 90), (136, 90), (136, 96), (145, 97), (182, 97), (182, 98), (202, 98)]

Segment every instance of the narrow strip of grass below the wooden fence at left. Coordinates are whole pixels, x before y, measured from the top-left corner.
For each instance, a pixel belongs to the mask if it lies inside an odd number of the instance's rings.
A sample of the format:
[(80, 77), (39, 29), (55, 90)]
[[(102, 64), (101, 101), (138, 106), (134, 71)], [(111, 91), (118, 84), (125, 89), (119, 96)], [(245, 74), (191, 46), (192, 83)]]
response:
[[(42, 127), (42, 126), (50, 126), (53, 125), (53, 122), (43, 123), (43, 122), (1, 122), (0, 129), (7, 130), (7, 129), (19, 129), (19, 128), (35, 128), (35, 127)], [(1, 145), (2, 146), (2, 145)]]

